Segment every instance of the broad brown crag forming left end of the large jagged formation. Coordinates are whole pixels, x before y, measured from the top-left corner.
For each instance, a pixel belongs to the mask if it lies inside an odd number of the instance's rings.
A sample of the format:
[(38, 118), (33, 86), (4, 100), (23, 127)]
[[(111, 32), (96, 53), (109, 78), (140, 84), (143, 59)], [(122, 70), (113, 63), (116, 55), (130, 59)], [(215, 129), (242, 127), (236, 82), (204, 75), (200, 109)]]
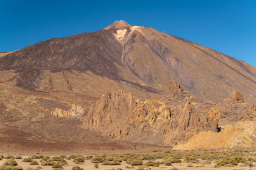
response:
[(131, 93), (119, 90), (103, 94), (96, 104), (92, 104), (84, 125), (110, 133), (124, 124), (134, 107), (136, 101)]

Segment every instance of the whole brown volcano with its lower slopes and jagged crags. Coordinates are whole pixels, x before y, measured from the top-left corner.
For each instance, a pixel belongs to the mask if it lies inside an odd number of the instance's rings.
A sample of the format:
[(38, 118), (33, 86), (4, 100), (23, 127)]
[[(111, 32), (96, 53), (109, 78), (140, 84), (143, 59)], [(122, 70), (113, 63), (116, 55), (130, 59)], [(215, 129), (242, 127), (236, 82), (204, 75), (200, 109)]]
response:
[[(0, 53), (0, 87), (2, 148), (174, 146), (220, 124), (254, 121), (256, 68), (116, 21)], [(223, 103), (234, 90), (244, 99)]]

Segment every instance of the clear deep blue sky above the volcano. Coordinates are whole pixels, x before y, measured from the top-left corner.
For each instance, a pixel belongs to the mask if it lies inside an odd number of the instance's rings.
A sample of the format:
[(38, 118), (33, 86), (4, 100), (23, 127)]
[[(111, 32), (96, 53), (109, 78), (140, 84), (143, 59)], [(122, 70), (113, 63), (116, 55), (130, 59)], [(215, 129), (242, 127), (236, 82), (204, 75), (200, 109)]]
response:
[(256, 1), (1, 0), (0, 52), (103, 29), (145, 25), (256, 66)]

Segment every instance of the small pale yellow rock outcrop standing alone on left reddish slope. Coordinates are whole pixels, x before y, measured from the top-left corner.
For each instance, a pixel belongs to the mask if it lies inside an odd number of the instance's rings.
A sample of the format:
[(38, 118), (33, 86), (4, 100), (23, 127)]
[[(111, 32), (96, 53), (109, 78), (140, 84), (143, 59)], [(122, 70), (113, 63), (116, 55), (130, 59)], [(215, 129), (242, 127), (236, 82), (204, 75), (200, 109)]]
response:
[(56, 108), (51, 112), (52, 115), (56, 117), (81, 117), (84, 114), (84, 109), (77, 105), (77, 103), (72, 104), (72, 108), (70, 110), (62, 110), (61, 108)]

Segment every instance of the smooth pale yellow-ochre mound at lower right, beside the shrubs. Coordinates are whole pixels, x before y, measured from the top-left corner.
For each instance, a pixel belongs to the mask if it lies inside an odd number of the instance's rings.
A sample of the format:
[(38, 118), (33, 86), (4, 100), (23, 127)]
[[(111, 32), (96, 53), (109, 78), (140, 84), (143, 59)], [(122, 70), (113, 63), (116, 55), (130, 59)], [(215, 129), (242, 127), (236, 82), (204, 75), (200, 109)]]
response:
[(252, 148), (255, 146), (255, 123), (254, 121), (234, 122), (225, 126), (221, 132), (200, 132), (188, 142), (173, 147), (173, 150)]

